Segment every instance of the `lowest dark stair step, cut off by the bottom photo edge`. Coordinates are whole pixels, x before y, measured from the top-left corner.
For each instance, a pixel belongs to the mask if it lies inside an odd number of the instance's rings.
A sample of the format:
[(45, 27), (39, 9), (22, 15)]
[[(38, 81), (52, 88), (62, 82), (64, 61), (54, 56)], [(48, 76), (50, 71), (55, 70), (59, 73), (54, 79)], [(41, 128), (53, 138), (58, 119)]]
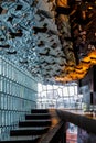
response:
[(40, 140), (40, 138), (35, 138), (35, 139), (15, 139), (15, 140), (7, 140), (7, 141), (0, 141), (0, 143), (38, 143), (38, 141)]

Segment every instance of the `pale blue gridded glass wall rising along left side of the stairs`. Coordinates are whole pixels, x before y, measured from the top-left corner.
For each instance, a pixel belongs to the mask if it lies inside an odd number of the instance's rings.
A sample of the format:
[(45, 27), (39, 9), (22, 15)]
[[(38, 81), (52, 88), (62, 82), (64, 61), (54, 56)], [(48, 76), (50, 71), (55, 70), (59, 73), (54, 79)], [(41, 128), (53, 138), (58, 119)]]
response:
[(36, 80), (0, 56), (0, 140), (36, 106)]

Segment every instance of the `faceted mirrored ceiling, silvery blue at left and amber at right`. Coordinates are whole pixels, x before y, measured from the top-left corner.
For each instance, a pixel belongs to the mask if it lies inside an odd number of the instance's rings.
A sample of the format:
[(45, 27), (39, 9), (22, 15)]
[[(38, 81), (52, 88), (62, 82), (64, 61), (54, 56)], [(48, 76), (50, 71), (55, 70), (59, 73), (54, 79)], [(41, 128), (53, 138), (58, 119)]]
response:
[(96, 0), (1, 0), (0, 55), (44, 82), (82, 79), (96, 64)]

